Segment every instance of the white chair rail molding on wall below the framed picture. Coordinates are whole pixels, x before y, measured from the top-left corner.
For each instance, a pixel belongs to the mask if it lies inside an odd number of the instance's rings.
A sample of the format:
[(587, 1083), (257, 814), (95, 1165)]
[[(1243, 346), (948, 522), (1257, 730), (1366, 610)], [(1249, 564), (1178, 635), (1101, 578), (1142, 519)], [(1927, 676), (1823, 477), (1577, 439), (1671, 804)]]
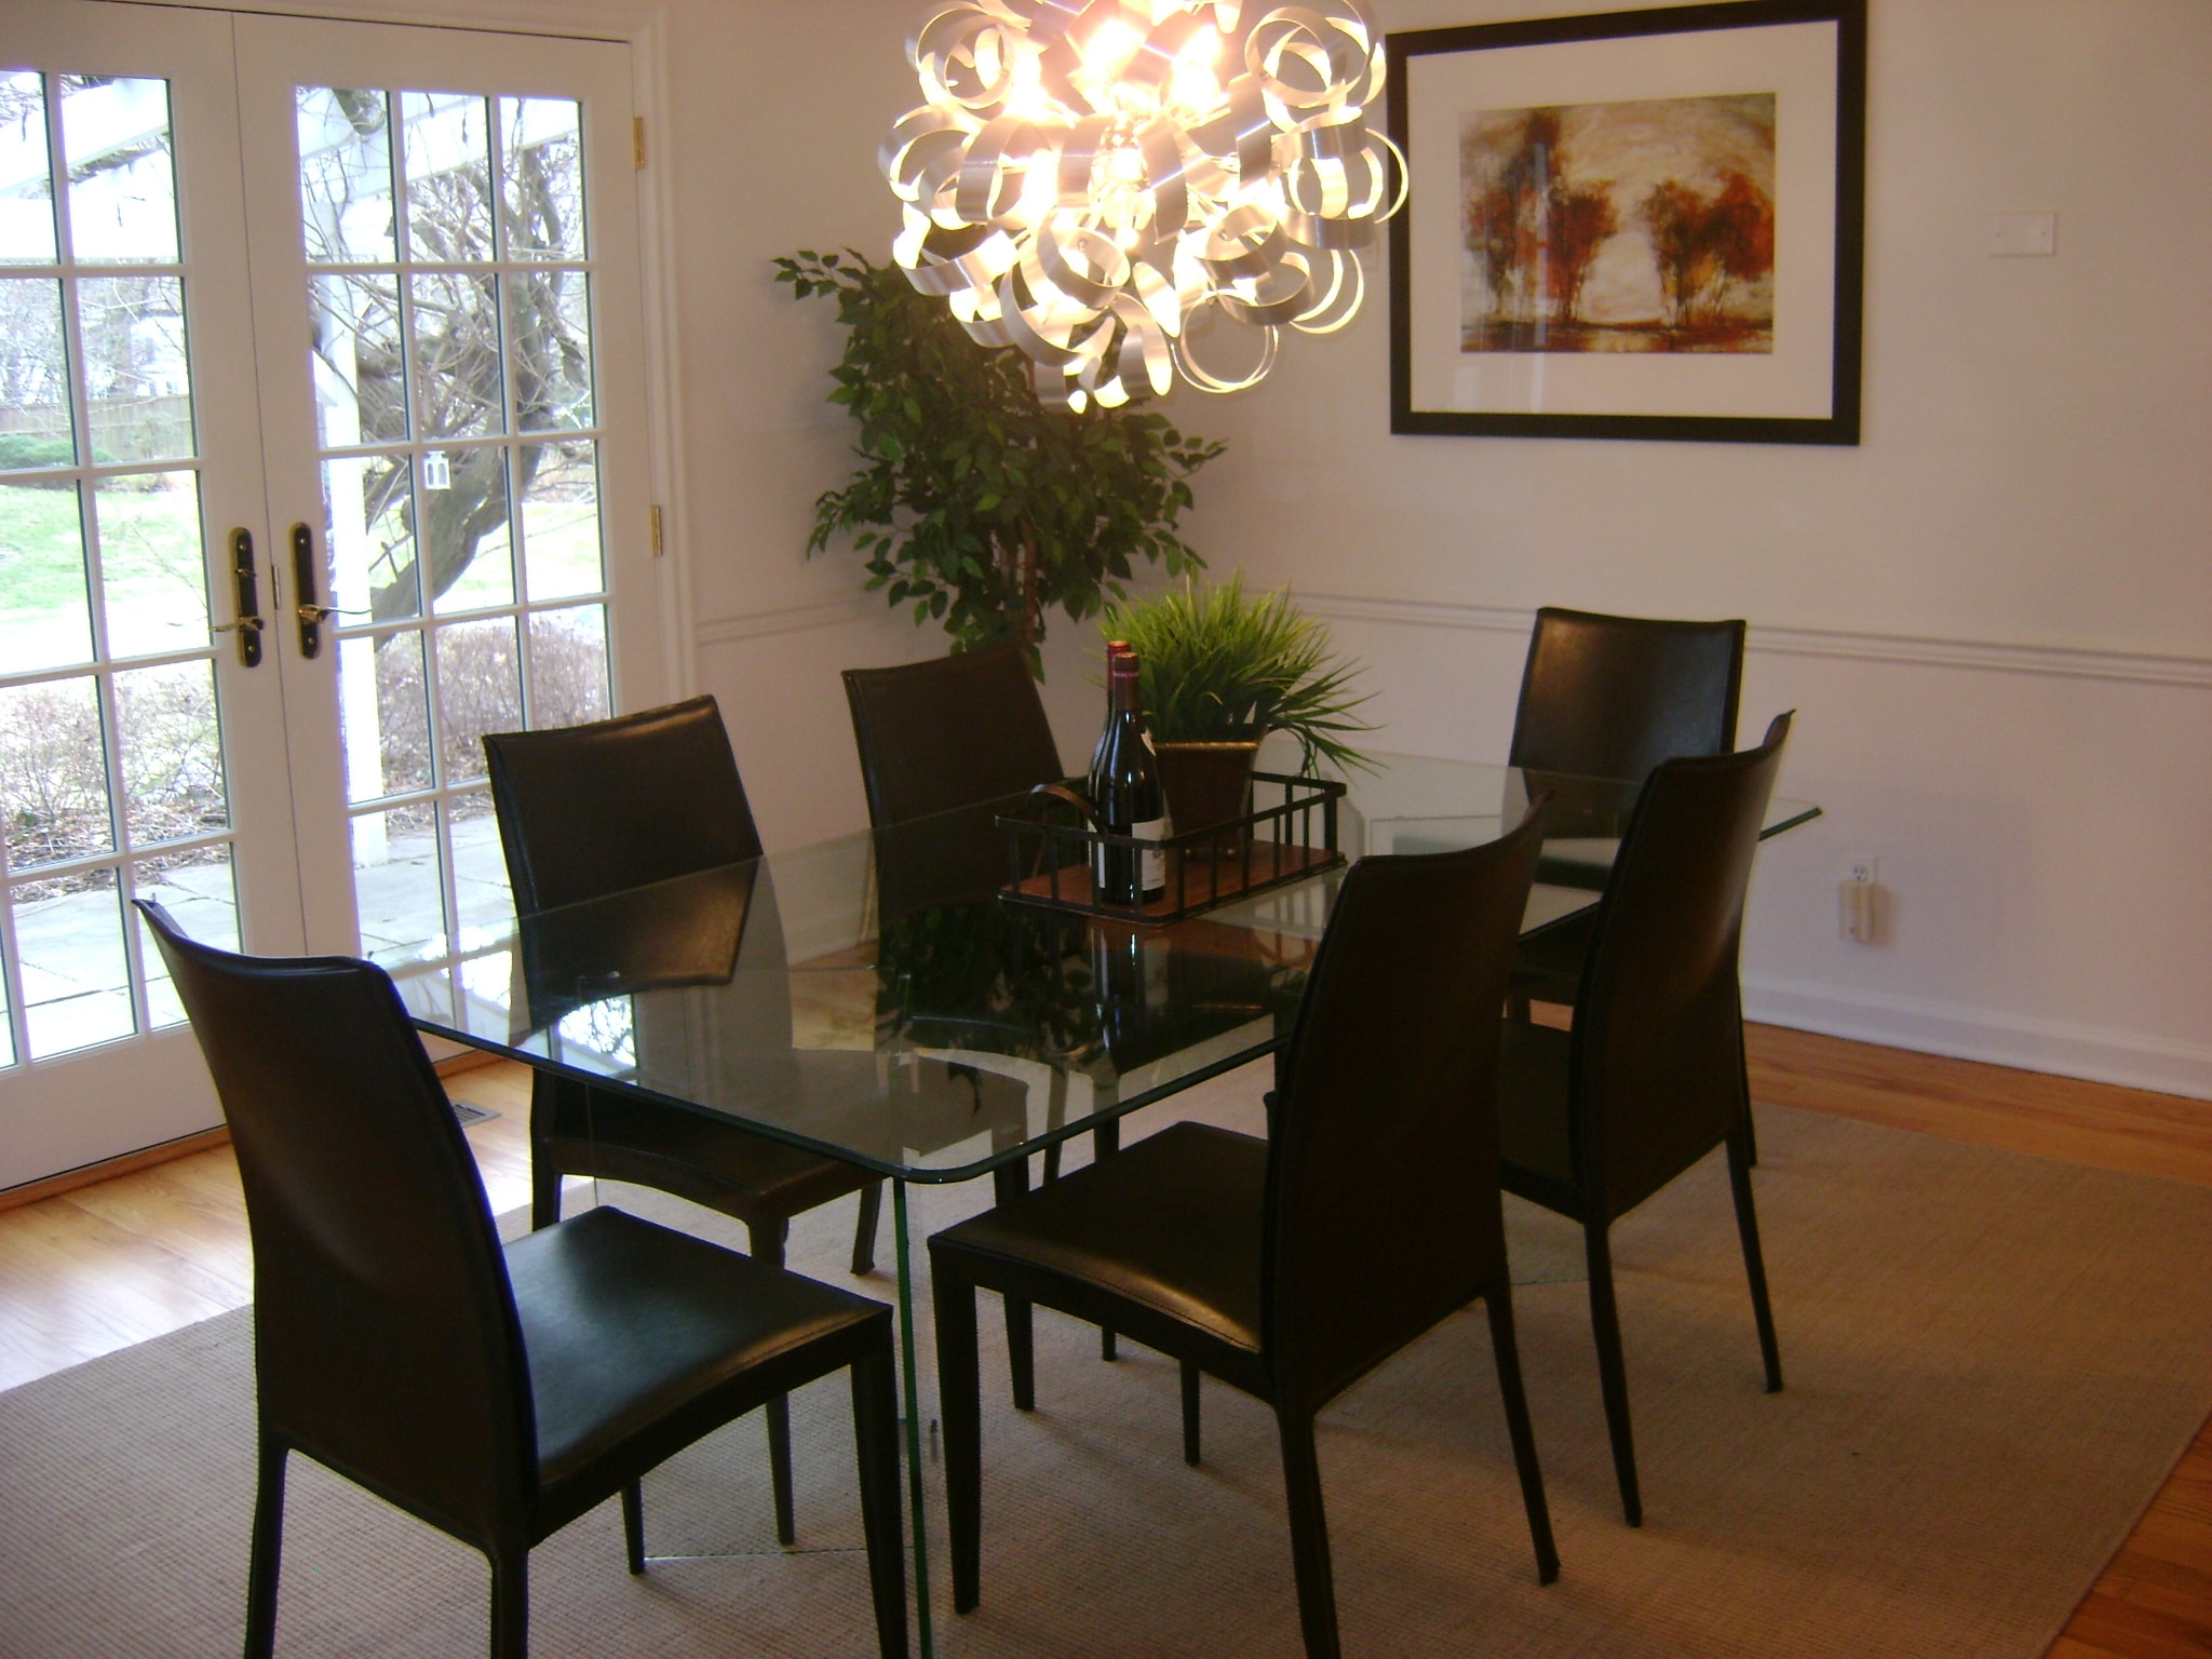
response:
[[(1380, 599), (1356, 593), (1298, 593), (1298, 604), (1329, 622), (1383, 622), (1400, 628), (1460, 628), (1526, 637), (1535, 611), (1455, 599)], [(1936, 635), (1845, 628), (1781, 628), (1752, 622), (1745, 648), (1776, 657), (1847, 657), (1913, 668), (1973, 668), (1982, 672), (2044, 675), (2057, 679), (2115, 679), (2137, 686), (2194, 686), (2212, 690), (2212, 655), (2112, 650), (2002, 639), (1944, 639)]]

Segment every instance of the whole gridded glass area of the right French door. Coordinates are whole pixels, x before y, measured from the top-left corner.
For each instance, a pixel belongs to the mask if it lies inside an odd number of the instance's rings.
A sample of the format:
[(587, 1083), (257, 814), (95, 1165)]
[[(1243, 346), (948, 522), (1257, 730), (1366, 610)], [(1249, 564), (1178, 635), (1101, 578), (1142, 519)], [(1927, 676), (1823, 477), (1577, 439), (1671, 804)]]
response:
[[(347, 799), (389, 958), (511, 914), (484, 732), (613, 706), (582, 106), (303, 86), (299, 133)], [(398, 248), (336, 206), (387, 188)]]

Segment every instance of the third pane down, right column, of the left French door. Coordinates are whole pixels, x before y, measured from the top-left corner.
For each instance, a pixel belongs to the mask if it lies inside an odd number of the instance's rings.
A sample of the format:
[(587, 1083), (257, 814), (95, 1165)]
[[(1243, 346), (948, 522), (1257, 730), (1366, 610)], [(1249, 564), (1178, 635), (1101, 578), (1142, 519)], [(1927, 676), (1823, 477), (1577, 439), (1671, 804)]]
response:
[(208, 562), (199, 473), (126, 473), (93, 484), (108, 655), (208, 644)]

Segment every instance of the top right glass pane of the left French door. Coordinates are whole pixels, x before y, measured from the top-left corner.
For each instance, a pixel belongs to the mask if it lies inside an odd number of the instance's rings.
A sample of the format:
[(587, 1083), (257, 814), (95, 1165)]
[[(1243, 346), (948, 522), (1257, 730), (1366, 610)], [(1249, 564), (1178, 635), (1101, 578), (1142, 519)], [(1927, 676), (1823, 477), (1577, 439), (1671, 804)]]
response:
[(69, 243), (84, 263), (177, 263), (168, 82), (62, 75)]

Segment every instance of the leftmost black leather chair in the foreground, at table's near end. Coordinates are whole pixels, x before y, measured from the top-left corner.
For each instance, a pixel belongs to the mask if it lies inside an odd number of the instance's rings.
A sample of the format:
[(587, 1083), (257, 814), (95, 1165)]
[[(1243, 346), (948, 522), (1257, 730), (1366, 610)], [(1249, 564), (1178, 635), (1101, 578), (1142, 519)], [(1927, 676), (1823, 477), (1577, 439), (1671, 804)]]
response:
[(491, 1562), (491, 1655), (529, 1648), (529, 1551), (723, 1422), (852, 1369), (876, 1632), (907, 1652), (891, 1310), (619, 1210), (500, 1248), (392, 980), (257, 960), (139, 902), (215, 1073), (254, 1241), (261, 1425), (246, 1655), (276, 1639), (303, 1451)]

